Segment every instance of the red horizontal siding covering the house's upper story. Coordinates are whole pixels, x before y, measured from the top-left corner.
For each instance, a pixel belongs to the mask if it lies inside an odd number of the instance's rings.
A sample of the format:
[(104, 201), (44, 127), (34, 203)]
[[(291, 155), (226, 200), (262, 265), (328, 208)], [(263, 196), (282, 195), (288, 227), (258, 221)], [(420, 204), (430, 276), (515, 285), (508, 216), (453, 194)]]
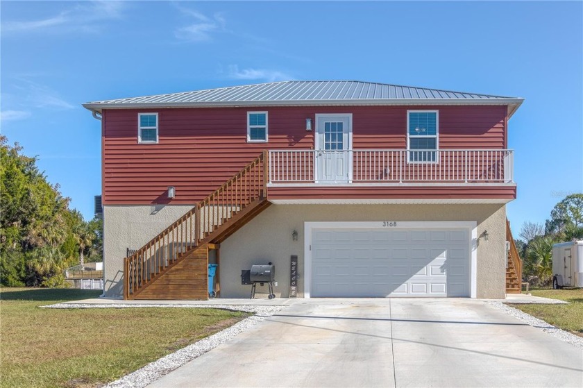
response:
[[(440, 149), (505, 148), (505, 106), (105, 110), (103, 203), (167, 203), (168, 186), (176, 187), (171, 203), (196, 203), (264, 149), (312, 148), (314, 132), (305, 131), (305, 119), (316, 113), (352, 113), (354, 149), (405, 149), (408, 109), (439, 110)], [(246, 142), (251, 110), (269, 112), (267, 144)], [(137, 143), (138, 112), (158, 112), (158, 144)], [(416, 190), (441, 195), (434, 187)]]

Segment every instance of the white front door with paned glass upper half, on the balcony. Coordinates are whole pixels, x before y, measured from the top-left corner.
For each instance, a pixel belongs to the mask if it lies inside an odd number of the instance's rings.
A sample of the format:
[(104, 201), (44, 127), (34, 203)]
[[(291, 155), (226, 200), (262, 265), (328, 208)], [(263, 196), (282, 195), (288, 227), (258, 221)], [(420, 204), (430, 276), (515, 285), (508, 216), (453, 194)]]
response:
[(316, 115), (316, 183), (348, 183), (352, 178), (352, 115)]

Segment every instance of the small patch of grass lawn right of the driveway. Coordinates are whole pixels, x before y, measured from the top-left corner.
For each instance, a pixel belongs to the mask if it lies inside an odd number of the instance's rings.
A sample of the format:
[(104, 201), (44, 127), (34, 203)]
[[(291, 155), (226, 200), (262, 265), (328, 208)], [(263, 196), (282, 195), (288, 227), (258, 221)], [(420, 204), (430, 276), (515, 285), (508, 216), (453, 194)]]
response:
[(568, 305), (513, 305), (518, 310), (542, 319), (563, 330), (583, 337), (583, 289), (532, 289), (530, 293), (543, 298), (560, 299)]

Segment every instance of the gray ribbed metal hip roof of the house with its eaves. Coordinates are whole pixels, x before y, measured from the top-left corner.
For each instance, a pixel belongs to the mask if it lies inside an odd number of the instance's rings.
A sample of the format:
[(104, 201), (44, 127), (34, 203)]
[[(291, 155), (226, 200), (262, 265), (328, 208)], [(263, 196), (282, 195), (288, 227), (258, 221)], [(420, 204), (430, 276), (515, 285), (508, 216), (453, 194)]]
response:
[[(282, 81), (219, 87), (153, 96), (92, 101), (89, 110), (105, 108), (187, 108), (203, 106), (308, 106), (308, 105), (509, 105), (514, 112), (523, 99), (370, 83), (362, 81)], [(512, 105), (512, 110), (510, 105)]]

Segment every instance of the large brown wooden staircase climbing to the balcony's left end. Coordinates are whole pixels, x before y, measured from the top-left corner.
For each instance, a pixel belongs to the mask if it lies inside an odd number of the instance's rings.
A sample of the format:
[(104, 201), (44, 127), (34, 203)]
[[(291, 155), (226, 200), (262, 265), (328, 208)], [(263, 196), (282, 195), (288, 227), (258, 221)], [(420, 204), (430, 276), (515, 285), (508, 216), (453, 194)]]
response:
[(208, 299), (208, 253), (267, 208), (267, 151), (124, 258), (124, 299)]

